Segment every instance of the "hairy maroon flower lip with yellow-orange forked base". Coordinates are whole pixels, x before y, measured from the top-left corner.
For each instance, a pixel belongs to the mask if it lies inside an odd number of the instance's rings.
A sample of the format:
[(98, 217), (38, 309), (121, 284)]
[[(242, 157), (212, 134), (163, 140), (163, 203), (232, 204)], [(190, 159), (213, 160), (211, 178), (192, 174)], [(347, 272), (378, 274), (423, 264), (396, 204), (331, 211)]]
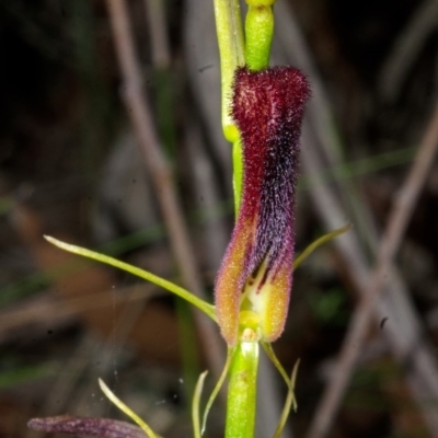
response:
[(235, 72), (232, 117), (243, 148), (242, 203), (216, 281), (222, 336), (235, 345), (241, 311), (254, 312), (260, 338), (283, 332), (293, 262), (299, 138), (310, 95), (291, 67)]

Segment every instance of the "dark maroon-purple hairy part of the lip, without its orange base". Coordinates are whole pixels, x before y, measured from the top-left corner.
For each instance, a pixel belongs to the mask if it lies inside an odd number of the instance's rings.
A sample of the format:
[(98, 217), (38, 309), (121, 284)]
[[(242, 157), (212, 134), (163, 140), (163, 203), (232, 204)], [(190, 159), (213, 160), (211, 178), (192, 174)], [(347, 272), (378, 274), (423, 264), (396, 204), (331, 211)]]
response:
[(308, 95), (307, 80), (291, 67), (261, 72), (243, 68), (235, 74), (232, 115), (243, 141), (242, 216), (258, 216), (249, 270), (266, 255), (270, 268), (292, 245), (299, 138)]

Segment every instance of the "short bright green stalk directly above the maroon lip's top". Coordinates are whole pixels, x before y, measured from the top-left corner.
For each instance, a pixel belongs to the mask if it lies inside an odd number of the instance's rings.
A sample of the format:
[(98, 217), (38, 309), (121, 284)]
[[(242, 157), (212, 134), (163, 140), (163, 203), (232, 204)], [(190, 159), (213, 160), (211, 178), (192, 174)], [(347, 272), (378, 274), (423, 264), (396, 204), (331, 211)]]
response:
[(247, 0), (245, 19), (245, 61), (254, 71), (269, 66), (270, 45), (274, 35), (275, 0)]

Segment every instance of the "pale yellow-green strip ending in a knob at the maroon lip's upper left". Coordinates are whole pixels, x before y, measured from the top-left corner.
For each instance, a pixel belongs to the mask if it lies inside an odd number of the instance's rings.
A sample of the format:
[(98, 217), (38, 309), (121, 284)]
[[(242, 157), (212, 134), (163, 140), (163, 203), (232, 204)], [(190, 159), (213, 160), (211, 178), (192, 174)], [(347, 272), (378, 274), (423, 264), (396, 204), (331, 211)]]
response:
[(239, 0), (215, 0), (215, 19), (220, 54), (222, 128), (226, 139), (234, 143), (239, 131), (230, 112), (232, 84), (235, 69), (245, 64)]

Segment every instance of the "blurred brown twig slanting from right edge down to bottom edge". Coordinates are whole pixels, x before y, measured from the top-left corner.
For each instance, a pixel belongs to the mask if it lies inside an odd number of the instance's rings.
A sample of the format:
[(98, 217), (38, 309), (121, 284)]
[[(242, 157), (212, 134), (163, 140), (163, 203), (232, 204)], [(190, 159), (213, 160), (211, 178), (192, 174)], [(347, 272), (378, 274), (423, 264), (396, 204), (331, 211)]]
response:
[(400, 247), (415, 203), (433, 163), (437, 146), (438, 105), (426, 129), (410, 174), (394, 199), (394, 206), (379, 247), (376, 269), (353, 315), (337, 365), (328, 388), (321, 400), (314, 423), (308, 435), (309, 438), (323, 438), (331, 428), (367, 335), (376, 299), (384, 284), (385, 274), (391, 268), (392, 260)]

